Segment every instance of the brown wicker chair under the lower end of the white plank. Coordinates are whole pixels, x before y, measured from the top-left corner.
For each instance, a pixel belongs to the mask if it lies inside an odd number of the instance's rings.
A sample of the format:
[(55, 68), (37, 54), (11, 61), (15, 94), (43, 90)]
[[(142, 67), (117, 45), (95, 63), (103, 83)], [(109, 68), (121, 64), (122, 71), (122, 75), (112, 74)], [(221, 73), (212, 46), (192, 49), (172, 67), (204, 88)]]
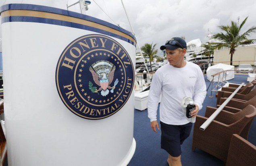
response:
[[(206, 109), (207, 115), (210, 114), (208, 110), (210, 110), (209, 107)], [(197, 115), (192, 150), (202, 149), (226, 162), (232, 134), (241, 134), (248, 123), (256, 116), (256, 108), (249, 105), (241, 113), (235, 115), (232, 116), (230, 112), (221, 111), (205, 131), (199, 128), (208, 118)]]

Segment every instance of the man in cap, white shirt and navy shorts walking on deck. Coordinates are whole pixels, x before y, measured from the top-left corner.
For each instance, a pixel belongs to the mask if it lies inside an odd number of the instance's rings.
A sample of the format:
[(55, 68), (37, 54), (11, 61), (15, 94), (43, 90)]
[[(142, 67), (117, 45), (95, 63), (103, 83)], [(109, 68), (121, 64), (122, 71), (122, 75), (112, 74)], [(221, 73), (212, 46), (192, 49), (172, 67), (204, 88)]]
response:
[(148, 117), (151, 128), (159, 130), (156, 121), (159, 97), (161, 124), (161, 148), (169, 153), (169, 166), (181, 166), (181, 144), (189, 137), (192, 123), (183, 114), (181, 101), (184, 97), (194, 100), (195, 117), (202, 108), (206, 96), (206, 84), (200, 67), (184, 60), (187, 44), (180, 37), (173, 37), (160, 47), (166, 51), (169, 63), (159, 68), (153, 76), (148, 96)]

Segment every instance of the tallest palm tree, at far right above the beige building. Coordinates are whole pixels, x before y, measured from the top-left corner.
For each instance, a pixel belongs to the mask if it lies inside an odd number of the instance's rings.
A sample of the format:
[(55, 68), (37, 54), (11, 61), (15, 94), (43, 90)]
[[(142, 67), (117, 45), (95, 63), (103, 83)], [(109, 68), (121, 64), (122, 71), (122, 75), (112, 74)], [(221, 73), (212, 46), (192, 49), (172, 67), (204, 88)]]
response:
[(256, 27), (252, 26), (249, 28), (246, 32), (241, 33), (241, 29), (246, 23), (248, 17), (242, 21), (242, 23), (239, 25), (234, 21), (231, 21), (231, 25), (221, 25), (219, 28), (222, 31), (225, 31), (224, 33), (216, 33), (212, 36), (213, 39), (217, 39), (221, 42), (212, 43), (215, 44), (216, 48), (221, 49), (223, 47), (230, 48), (229, 54), (230, 56), (230, 65), (232, 65), (233, 60), (233, 54), (235, 53), (235, 48), (239, 45), (243, 44), (253, 44), (256, 39), (248, 39), (247, 37), (250, 37), (252, 33), (256, 31)]

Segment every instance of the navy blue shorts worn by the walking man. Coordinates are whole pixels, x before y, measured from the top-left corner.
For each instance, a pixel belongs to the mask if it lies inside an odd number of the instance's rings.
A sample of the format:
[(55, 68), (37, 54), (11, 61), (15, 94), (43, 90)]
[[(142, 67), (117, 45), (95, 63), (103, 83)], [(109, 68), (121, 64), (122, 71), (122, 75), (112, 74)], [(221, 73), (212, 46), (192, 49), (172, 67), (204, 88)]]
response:
[(161, 124), (161, 148), (166, 150), (171, 156), (178, 157), (181, 155), (181, 144), (189, 137), (192, 123), (185, 125), (167, 125)]

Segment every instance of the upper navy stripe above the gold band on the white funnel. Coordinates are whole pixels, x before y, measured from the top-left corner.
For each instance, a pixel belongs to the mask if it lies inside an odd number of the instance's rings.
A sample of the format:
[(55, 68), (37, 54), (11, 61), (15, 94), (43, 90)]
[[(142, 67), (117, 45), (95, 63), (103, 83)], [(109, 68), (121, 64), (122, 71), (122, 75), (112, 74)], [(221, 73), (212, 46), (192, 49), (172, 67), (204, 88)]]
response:
[(49, 6), (41, 6), (41, 5), (34, 5), (34, 4), (6, 4), (6, 5), (3, 5), (0, 7), (0, 14), (6, 10), (34, 10), (34, 11), (41, 11), (41, 12), (50, 12), (50, 13), (54, 13), (54, 14), (66, 15), (66, 16), (75, 17), (75, 18), (79, 18), (79, 19), (83, 19), (83, 20), (87, 20), (87, 21), (92, 21), (94, 23), (98, 23), (98, 24), (116, 29), (117, 31), (123, 32), (123, 33), (131, 36), (136, 41), (135, 36), (131, 32), (129, 32), (121, 27), (118, 27), (117, 25), (108, 23), (106, 21), (97, 19), (95, 17), (83, 15), (83, 14), (80, 14), (77, 12), (72, 12), (69, 10), (63, 10), (60, 8), (53, 8), (53, 7), (49, 7)]

